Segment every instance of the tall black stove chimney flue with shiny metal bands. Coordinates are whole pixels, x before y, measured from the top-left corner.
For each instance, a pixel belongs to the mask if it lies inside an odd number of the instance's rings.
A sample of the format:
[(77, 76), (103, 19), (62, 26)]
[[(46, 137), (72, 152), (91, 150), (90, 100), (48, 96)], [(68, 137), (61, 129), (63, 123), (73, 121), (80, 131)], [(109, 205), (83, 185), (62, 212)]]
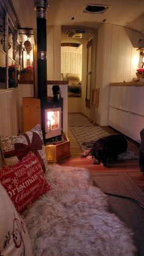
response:
[(47, 101), (47, 64), (46, 64), (46, 9), (48, 0), (35, 0), (37, 12), (37, 79), (38, 98)]

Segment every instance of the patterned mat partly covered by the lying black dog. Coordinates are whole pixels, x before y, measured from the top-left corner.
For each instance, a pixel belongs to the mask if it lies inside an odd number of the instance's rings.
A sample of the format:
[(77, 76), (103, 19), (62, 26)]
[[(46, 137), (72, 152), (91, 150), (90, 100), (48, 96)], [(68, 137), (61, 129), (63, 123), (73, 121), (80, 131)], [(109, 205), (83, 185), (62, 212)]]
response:
[[(70, 130), (73, 133), (82, 151), (93, 147), (93, 143), (101, 137), (109, 136), (107, 131), (104, 131), (100, 126), (70, 126)], [(118, 159), (139, 159), (138, 155), (134, 152), (127, 150), (124, 153), (118, 155)]]

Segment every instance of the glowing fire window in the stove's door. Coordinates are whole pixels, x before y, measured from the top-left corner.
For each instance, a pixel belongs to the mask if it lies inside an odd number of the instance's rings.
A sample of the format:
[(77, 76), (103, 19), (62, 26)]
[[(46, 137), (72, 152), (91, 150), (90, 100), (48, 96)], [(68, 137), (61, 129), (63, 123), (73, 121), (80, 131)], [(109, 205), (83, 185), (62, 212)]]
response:
[(61, 134), (61, 108), (45, 109), (45, 138)]

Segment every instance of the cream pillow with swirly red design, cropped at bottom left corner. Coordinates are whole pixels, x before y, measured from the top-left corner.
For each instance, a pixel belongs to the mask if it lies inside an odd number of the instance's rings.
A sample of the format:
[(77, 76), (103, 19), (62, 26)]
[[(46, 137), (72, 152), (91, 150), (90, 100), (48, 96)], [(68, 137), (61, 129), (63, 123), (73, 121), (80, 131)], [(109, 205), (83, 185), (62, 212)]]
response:
[(32, 256), (26, 225), (0, 184), (0, 255)]

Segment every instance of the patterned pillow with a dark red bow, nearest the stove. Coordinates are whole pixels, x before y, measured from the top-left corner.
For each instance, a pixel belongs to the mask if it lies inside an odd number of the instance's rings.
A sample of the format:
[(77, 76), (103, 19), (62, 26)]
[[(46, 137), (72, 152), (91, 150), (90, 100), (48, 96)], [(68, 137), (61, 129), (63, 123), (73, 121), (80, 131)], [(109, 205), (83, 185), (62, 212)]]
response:
[(7, 166), (18, 163), (27, 153), (34, 152), (40, 161), (43, 171), (48, 167), (46, 161), (43, 134), (40, 125), (20, 136), (1, 136), (1, 150)]

